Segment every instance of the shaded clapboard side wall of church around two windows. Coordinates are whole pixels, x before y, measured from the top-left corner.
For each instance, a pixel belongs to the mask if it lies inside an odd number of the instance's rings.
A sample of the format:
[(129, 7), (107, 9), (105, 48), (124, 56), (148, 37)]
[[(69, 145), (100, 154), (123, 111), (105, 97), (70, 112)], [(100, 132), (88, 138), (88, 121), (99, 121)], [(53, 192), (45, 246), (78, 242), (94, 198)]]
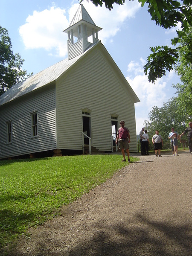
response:
[[(31, 136), (31, 113), (38, 113), (38, 137)], [(29, 93), (0, 108), (0, 158), (56, 148), (55, 87)], [(7, 122), (12, 121), (12, 143), (7, 144)]]

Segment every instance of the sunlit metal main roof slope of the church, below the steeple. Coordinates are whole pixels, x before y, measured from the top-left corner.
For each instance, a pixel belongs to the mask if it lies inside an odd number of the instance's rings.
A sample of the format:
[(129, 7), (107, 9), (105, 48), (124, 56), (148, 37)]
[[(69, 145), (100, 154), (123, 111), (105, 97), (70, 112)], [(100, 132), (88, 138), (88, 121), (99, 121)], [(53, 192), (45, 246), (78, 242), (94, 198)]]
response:
[(68, 58), (46, 68), (45, 70), (29, 77), (15, 85), (0, 96), (0, 105), (10, 102), (20, 96), (25, 95), (33, 90), (36, 90), (46, 84), (56, 81), (65, 71), (67, 71), (76, 61), (78, 61), (87, 51), (96, 44), (93, 44), (85, 52), (68, 60)]

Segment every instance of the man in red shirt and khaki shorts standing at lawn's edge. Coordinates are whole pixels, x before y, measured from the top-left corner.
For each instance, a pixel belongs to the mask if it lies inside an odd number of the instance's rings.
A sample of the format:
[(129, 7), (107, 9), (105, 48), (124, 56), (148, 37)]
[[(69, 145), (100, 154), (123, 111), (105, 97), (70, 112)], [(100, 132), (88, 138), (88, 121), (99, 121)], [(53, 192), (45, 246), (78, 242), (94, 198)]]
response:
[(120, 122), (121, 127), (117, 131), (117, 137), (116, 137), (116, 144), (119, 142), (119, 148), (121, 149), (121, 153), (123, 156), (122, 162), (126, 162), (125, 159), (125, 150), (127, 152), (128, 156), (128, 162), (130, 163), (129, 159), (129, 144), (130, 143), (130, 134), (129, 129), (125, 127), (125, 122), (122, 120)]

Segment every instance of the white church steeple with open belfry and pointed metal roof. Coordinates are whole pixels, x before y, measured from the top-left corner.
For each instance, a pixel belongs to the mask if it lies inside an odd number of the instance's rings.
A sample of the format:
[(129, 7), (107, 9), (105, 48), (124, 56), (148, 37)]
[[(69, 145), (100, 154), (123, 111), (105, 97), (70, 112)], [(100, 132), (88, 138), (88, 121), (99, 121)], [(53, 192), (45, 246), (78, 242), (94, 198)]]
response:
[[(98, 31), (100, 30), (102, 30), (102, 28), (96, 26), (84, 6), (80, 4), (70, 26), (68, 29), (64, 30), (64, 32), (68, 34), (68, 59), (70, 60), (76, 57), (91, 45), (96, 44), (99, 41)], [(89, 42), (88, 37), (91, 35), (92, 42)], [(74, 41), (74, 37), (77, 38), (77, 42)]]

